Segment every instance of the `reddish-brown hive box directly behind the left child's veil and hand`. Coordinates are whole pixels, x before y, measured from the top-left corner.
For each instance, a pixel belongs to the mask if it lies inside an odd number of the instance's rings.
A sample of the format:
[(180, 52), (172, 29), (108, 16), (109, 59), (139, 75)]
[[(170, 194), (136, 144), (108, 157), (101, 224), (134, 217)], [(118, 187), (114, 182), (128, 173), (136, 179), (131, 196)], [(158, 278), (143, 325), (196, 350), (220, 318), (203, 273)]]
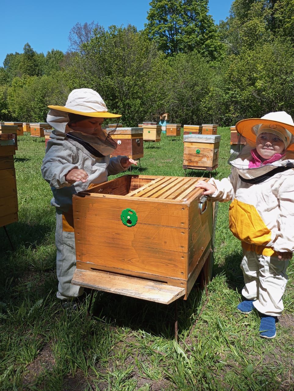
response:
[(117, 149), (111, 156), (125, 155), (131, 159), (143, 158), (142, 127), (120, 127), (111, 137), (117, 142)]

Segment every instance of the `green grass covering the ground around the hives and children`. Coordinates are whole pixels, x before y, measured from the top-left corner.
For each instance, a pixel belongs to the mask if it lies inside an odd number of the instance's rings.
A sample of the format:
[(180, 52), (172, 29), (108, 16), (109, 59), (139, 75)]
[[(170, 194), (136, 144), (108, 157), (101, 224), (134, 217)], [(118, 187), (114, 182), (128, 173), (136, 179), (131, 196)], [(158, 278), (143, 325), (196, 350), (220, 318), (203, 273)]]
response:
[[(217, 178), (229, 174), (229, 128), (219, 128)], [(208, 301), (193, 290), (179, 300), (179, 345), (174, 308), (97, 292), (78, 312), (61, 310), (55, 293), (55, 213), (41, 177), (44, 139), (19, 137), (15, 168), (19, 221), (3, 229), (0, 275), (0, 390), (292, 390), (294, 389), (293, 263), (277, 337), (258, 335), (259, 317), (236, 311), (243, 278), (241, 248), (228, 228), (228, 203), (219, 204), (213, 280)], [(182, 139), (145, 144), (133, 174), (183, 176)], [(208, 172), (186, 172), (208, 176)], [(196, 321), (196, 323), (195, 323)], [(187, 339), (192, 325), (190, 339)]]

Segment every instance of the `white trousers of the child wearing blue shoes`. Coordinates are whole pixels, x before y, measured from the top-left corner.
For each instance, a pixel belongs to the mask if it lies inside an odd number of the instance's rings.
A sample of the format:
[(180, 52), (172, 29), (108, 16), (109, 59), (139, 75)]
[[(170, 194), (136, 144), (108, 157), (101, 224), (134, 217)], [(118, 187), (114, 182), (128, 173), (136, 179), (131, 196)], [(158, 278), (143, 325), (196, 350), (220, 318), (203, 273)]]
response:
[(261, 313), (280, 316), (283, 306), (288, 276), (286, 269), (289, 260), (282, 261), (278, 256), (265, 256), (243, 249), (241, 269), (245, 285), (242, 295), (253, 301), (254, 307)]

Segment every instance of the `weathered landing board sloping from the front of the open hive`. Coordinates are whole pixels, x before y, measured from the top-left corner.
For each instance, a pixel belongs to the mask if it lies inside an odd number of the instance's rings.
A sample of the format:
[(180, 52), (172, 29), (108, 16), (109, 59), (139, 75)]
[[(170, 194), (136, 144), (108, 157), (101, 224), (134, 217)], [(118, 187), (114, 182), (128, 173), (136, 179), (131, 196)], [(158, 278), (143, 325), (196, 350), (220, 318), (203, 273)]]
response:
[(162, 282), (80, 269), (75, 270), (72, 284), (162, 304), (172, 303), (185, 296), (185, 289)]

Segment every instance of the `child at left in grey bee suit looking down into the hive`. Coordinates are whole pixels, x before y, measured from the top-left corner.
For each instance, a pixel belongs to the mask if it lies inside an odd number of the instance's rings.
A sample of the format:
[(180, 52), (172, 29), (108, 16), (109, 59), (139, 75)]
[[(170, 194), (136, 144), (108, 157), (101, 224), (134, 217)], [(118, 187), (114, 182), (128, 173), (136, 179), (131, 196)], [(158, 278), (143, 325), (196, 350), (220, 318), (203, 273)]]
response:
[(76, 308), (83, 288), (71, 284), (76, 267), (72, 195), (137, 162), (127, 156), (109, 157), (117, 144), (102, 129), (102, 122), (121, 115), (109, 113), (96, 91), (73, 90), (65, 106), (48, 107), (47, 122), (54, 130), (41, 171), (53, 192), (51, 205), (56, 207), (57, 298), (63, 308)]

